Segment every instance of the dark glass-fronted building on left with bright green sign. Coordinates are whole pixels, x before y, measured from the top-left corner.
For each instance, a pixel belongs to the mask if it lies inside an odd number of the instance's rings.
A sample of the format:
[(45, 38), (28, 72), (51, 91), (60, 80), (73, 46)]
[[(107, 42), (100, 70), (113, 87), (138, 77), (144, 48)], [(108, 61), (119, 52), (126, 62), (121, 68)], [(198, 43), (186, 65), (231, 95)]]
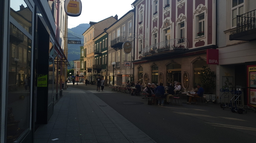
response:
[(64, 3), (1, 0), (0, 143), (31, 143), (62, 95), (67, 75)]

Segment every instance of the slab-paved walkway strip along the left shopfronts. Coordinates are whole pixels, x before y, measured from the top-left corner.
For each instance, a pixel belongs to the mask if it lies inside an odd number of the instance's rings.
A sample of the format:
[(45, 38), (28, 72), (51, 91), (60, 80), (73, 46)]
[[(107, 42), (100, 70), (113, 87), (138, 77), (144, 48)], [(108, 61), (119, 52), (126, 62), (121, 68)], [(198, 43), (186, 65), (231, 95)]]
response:
[[(94, 95), (96, 90), (72, 86), (55, 104), (49, 123), (35, 132), (35, 143), (156, 143)], [(105, 87), (104, 92), (112, 91)]]

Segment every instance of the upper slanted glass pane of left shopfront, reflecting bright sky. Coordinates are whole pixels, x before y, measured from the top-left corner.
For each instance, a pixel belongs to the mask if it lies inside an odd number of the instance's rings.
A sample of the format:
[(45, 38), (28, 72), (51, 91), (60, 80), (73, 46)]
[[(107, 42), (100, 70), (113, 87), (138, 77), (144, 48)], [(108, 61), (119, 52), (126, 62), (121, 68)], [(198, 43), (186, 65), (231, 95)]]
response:
[[(32, 11), (23, 0), (10, 0), (10, 15), (32, 34)], [(27, 40), (27, 37), (24, 39)]]

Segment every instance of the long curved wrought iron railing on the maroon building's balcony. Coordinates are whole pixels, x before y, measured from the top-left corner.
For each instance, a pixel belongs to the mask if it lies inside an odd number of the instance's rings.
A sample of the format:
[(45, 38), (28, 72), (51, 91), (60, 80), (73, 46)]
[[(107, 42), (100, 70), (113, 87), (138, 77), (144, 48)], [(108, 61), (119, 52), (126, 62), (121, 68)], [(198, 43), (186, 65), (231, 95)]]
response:
[(185, 51), (188, 49), (189, 43), (187, 39), (169, 39), (163, 42), (159, 42), (142, 49), (141, 53), (143, 56), (158, 53), (166, 50), (177, 50), (177, 51)]

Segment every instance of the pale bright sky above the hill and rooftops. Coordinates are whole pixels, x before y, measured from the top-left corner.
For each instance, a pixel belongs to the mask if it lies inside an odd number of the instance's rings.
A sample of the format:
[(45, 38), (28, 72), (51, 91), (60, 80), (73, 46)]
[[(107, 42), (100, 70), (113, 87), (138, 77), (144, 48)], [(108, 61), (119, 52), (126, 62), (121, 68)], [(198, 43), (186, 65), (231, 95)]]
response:
[(68, 28), (82, 23), (99, 22), (117, 14), (118, 19), (132, 8), (135, 0), (81, 0), (82, 11), (78, 17), (68, 16)]

